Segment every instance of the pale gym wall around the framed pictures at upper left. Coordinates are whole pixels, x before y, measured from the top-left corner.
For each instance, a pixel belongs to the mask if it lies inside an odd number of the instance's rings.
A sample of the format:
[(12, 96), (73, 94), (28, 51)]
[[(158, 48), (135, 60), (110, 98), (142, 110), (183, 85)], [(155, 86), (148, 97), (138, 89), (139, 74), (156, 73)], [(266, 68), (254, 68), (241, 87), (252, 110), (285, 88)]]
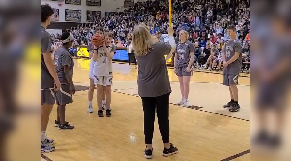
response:
[(123, 7), (123, 0), (101, 0), (101, 6), (87, 6), (87, 0), (81, 0), (81, 5), (76, 4), (65, 4), (63, 1), (52, 1), (52, 0), (41, 0), (41, 4), (49, 4), (52, 8), (59, 9), (59, 21), (57, 22), (70, 22), (65, 21), (65, 10), (81, 10), (81, 22), (87, 20), (88, 11), (100, 11), (101, 17), (104, 16), (105, 11), (116, 11), (116, 8), (121, 9)]

